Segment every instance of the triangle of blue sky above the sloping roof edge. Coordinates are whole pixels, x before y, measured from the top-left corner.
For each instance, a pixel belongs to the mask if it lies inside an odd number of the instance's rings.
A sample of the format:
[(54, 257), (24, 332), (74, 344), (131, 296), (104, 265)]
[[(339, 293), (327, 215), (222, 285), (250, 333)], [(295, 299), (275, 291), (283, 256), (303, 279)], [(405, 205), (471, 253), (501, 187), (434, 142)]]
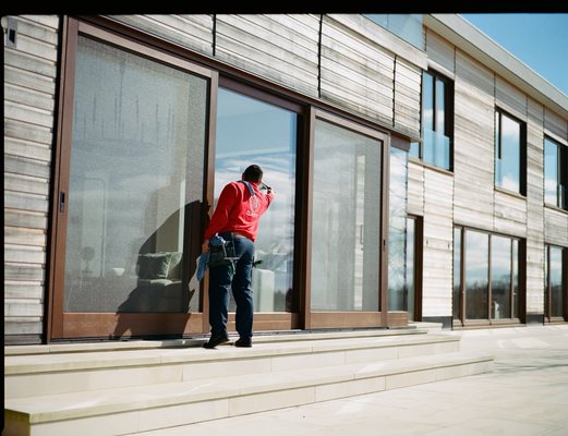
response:
[(568, 96), (568, 13), (460, 15)]

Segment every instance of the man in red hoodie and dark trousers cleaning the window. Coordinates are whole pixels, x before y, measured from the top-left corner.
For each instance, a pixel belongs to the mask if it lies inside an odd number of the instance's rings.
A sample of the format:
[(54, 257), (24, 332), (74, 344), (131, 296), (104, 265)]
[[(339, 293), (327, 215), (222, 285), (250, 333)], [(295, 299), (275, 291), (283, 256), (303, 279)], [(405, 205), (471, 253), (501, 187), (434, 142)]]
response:
[(203, 253), (209, 253), (209, 240), (220, 237), (231, 247), (231, 262), (213, 266), (209, 264), (209, 325), (212, 336), (204, 348), (216, 348), (229, 342), (227, 316), (232, 291), (237, 303), (235, 347), (252, 347), (253, 336), (253, 289), (252, 269), (254, 241), (261, 216), (268, 209), (274, 193), (267, 186), (266, 194), (259, 191), (263, 170), (257, 165), (247, 167), (242, 180), (228, 183), (219, 195), (217, 207), (204, 234)]

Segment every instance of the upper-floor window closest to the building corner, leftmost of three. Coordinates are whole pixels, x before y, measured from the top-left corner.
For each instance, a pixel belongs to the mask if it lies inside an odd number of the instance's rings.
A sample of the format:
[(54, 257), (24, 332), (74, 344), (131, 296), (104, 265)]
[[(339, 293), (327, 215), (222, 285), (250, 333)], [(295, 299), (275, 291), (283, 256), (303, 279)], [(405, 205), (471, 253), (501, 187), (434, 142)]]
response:
[(451, 170), (454, 142), (452, 82), (433, 71), (422, 74), (422, 143), (412, 143), (410, 155)]

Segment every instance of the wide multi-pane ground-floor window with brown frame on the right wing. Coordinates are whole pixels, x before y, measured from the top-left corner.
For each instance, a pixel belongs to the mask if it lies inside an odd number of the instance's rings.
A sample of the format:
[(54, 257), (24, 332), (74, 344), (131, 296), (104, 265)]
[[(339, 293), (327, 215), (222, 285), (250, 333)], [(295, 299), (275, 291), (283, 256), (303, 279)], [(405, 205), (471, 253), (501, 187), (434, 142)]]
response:
[(454, 232), (454, 319), (461, 324), (519, 317), (519, 243), (466, 228)]

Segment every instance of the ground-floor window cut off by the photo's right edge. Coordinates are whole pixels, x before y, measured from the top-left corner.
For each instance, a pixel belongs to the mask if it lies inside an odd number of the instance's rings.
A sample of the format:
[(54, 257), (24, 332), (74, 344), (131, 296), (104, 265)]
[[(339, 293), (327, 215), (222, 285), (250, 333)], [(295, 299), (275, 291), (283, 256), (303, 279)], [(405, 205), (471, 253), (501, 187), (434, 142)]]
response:
[(547, 322), (567, 318), (567, 249), (545, 246), (544, 316)]

